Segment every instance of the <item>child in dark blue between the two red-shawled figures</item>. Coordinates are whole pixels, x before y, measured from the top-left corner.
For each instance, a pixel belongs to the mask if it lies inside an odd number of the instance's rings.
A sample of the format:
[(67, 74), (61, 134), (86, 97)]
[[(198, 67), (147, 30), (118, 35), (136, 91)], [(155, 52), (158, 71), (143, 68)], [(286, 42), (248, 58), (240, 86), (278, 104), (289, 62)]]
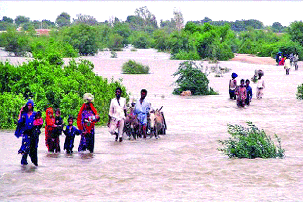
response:
[(69, 153), (73, 153), (75, 135), (80, 135), (81, 131), (78, 130), (75, 126), (73, 126), (74, 118), (72, 116), (69, 116), (67, 121), (68, 121), (68, 125), (66, 126), (66, 129), (63, 131), (63, 133), (66, 136), (63, 150), (66, 150), (66, 153), (69, 154)]

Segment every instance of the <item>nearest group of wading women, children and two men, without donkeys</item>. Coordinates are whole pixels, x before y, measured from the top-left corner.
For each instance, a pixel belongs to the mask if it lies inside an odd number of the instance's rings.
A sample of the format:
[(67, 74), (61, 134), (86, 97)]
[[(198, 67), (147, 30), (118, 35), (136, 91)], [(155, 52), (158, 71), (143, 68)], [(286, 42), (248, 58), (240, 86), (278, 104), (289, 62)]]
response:
[[(121, 97), (122, 89), (115, 89), (116, 97), (111, 100), (109, 109), (109, 120), (107, 123), (110, 134), (115, 135), (115, 141), (123, 141), (124, 122), (127, 117), (126, 99)], [(151, 109), (150, 103), (145, 99), (147, 91), (141, 90), (141, 98), (137, 100), (132, 115), (135, 115), (139, 122), (140, 133), (146, 138), (147, 116)], [(65, 130), (63, 128), (63, 119), (60, 116), (60, 110), (53, 108), (46, 109), (45, 122), (45, 144), (48, 151), (53, 153), (60, 152), (59, 136), (62, 132), (65, 134), (64, 150), (66, 153), (73, 153), (75, 135), (81, 135), (78, 151), (88, 150), (90, 153), (94, 151), (95, 129), (94, 125), (100, 120), (100, 117), (93, 105), (94, 97), (90, 93), (83, 96), (84, 103), (77, 116), (77, 127), (73, 126), (74, 118), (68, 117), (68, 125)], [(38, 142), (40, 129), (43, 125), (41, 112), (34, 111), (34, 102), (29, 99), (21, 108), (18, 124), (15, 131), (16, 137), (22, 137), (21, 147), (18, 151), (22, 155), (21, 164), (27, 165), (28, 155), (32, 163), (38, 166)]]

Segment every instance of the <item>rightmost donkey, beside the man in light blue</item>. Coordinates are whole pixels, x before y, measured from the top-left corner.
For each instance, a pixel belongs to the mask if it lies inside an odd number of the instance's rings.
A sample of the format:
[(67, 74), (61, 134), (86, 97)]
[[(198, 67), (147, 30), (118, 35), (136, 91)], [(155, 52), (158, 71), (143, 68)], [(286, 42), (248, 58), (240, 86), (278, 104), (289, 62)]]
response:
[(159, 134), (165, 134), (166, 123), (163, 113), (160, 112), (162, 107), (158, 110), (152, 110), (149, 115), (149, 126), (150, 126), (150, 138), (153, 134), (156, 139), (158, 139)]

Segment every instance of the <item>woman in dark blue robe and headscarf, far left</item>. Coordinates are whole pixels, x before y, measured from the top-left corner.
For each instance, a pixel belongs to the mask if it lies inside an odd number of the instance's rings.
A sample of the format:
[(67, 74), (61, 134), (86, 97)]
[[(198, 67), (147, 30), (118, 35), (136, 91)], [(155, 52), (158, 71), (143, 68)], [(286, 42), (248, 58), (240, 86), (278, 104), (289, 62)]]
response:
[(38, 166), (38, 141), (39, 135), (34, 129), (34, 102), (29, 99), (25, 106), (20, 110), (18, 125), (15, 131), (15, 136), (22, 136), (22, 145), (18, 153), (22, 154), (21, 164), (27, 165), (27, 156), (29, 155), (31, 161), (35, 166)]

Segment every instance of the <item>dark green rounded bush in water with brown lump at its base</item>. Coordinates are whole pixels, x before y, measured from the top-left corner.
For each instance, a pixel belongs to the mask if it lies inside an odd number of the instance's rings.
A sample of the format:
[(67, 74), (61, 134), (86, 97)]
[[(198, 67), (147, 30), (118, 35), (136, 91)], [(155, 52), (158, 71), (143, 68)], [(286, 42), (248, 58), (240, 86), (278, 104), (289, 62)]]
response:
[(178, 76), (174, 83), (177, 88), (174, 89), (173, 94), (179, 95), (186, 90), (190, 90), (193, 95), (218, 94), (208, 87), (209, 80), (202, 70), (193, 61), (181, 62), (178, 70), (173, 74), (174, 77)]

